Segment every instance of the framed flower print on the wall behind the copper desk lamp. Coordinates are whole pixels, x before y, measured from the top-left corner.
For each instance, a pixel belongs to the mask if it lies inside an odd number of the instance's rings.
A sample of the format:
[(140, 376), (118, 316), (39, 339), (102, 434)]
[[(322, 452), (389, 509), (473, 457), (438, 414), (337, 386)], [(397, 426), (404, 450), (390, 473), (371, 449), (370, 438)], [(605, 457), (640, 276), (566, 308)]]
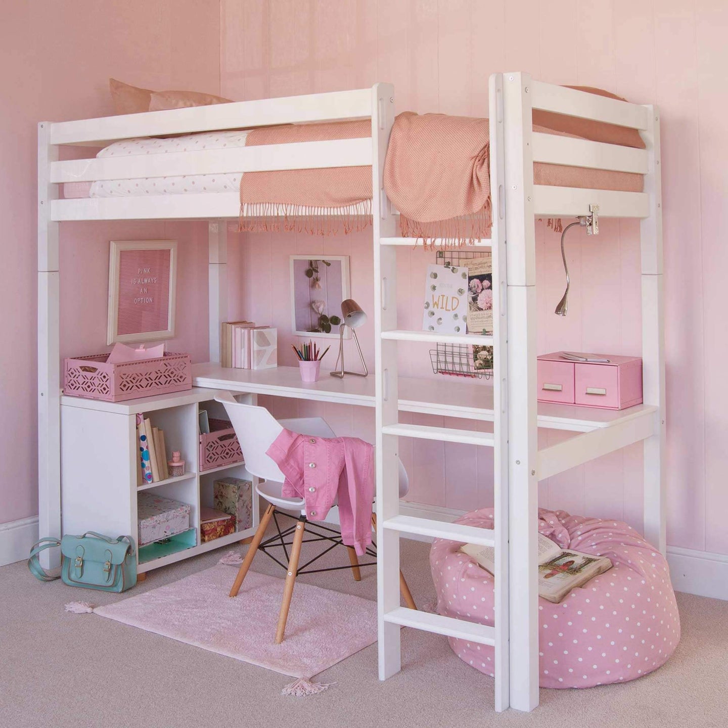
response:
[[(311, 269), (311, 264), (317, 270), (309, 277), (305, 271)], [(316, 282), (320, 288), (314, 288)], [(290, 256), (290, 317), (294, 336), (339, 339), (338, 323), (331, 325), (329, 332), (316, 329), (322, 315), (341, 319), (341, 302), (350, 296), (349, 256)], [(323, 302), (321, 311), (314, 307), (319, 301)], [(350, 337), (349, 328), (344, 327), (344, 338)]]

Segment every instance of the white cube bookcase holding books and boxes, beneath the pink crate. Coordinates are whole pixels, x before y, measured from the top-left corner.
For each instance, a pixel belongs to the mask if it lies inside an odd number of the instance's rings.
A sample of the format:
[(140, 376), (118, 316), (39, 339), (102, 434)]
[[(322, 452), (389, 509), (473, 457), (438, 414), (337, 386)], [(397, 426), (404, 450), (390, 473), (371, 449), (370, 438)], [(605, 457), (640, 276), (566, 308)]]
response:
[[(138, 573), (181, 561), (252, 536), (258, 526), (258, 499), (253, 491), (253, 523), (249, 529), (200, 542), (199, 514), (202, 506), (213, 505), (216, 478), (232, 476), (256, 485), (245, 463), (199, 470), (198, 414), (207, 410), (211, 417), (226, 419), (223, 406), (215, 402), (218, 389), (193, 387), (159, 397), (143, 397), (125, 402), (102, 402), (82, 397), (61, 397), (61, 516), (64, 534), (97, 531), (107, 536), (130, 535), (138, 543), (137, 497), (140, 491), (154, 489), (165, 498), (190, 505), (187, 539), (173, 539), (138, 555)], [(254, 404), (256, 395), (237, 395)], [(152, 424), (165, 431), (167, 455), (179, 450), (186, 472), (178, 478), (137, 485), (138, 442), (136, 416), (143, 413)], [(186, 543), (185, 543), (186, 541)], [(190, 545), (194, 544), (194, 545)], [(147, 553), (144, 553), (144, 551)]]

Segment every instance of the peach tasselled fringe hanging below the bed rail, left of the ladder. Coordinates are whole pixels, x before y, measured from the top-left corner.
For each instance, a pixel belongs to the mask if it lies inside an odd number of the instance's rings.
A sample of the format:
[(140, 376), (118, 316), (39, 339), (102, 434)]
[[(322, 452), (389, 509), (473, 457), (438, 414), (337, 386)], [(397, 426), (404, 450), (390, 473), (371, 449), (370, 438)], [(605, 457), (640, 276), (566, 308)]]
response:
[(240, 205), (238, 232), (305, 232), (309, 235), (345, 235), (371, 226), (371, 199), (345, 207), (252, 202)]

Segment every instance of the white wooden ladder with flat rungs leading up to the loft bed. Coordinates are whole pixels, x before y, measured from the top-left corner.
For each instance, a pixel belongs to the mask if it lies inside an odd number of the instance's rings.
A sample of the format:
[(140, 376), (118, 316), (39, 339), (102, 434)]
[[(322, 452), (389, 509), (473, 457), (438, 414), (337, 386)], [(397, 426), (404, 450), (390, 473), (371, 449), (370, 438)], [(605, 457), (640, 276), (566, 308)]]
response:
[[(502, 108), (502, 75), (491, 76), (491, 109)], [(400, 625), (467, 639), (495, 647), (495, 708), (510, 705), (509, 601), (508, 601), (508, 423), (507, 311), (505, 206), (503, 190), (491, 184), (493, 229), (491, 240), (477, 245), (491, 247), (493, 256), (493, 336), (457, 336), (427, 331), (397, 329), (398, 245), (412, 245), (411, 238), (395, 237), (395, 218), (384, 194), (382, 175), (389, 132), (394, 121), (394, 90), (389, 84), (373, 89), (373, 232), (374, 319), (376, 361), (376, 513), (377, 513), (377, 601), (379, 610), (379, 678), (385, 680), (400, 670)], [(499, 98), (500, 97), (500, 98)], [(503, 117), (491, 122), (491, 181), (504, 179)], [(494, 347), (494, 432), (454, 430), (400, 424), (397, 406), (397, 347), (400, 342), (432, 341), (448, 344), (481, 344)], [(487, 385), (484, 385), (487, 386)], [(483, 413), (485, 414), (485, 413)], [(478, 529), (456, 523), (400, 515), (397, 486), (398, 438), (424, 438), (469, 443), (494, 448), (494, 529)], [(412, 534), (495, 547), (495, 626), (479, 625), (440, 614), (428, 614), (400, 606), (400, 536)]]

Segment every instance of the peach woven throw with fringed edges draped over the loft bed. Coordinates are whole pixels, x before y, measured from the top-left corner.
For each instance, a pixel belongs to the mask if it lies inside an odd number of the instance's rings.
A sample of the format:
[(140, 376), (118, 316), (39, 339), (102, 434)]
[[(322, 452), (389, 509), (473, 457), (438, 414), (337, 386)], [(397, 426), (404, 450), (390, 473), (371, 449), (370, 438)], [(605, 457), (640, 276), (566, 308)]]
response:
[[(534, 131), (577, 136), (534, 126)], [(246, 146), (371, 136), (368, 120), (266, 127)], [(403, 237), (448, 245), (489, 237), (491, 185), (488, 119), (399, 114), (384, 165), (384, 189), (400, 213)], [(534, 183), (641, 191), (642, 175), (534, 164)], [(246, 172), (240, 181), (240, 229), (329, 235), (371, 223), (371, 167)], [(561, 221), (550, 220), (557, 229)]]

